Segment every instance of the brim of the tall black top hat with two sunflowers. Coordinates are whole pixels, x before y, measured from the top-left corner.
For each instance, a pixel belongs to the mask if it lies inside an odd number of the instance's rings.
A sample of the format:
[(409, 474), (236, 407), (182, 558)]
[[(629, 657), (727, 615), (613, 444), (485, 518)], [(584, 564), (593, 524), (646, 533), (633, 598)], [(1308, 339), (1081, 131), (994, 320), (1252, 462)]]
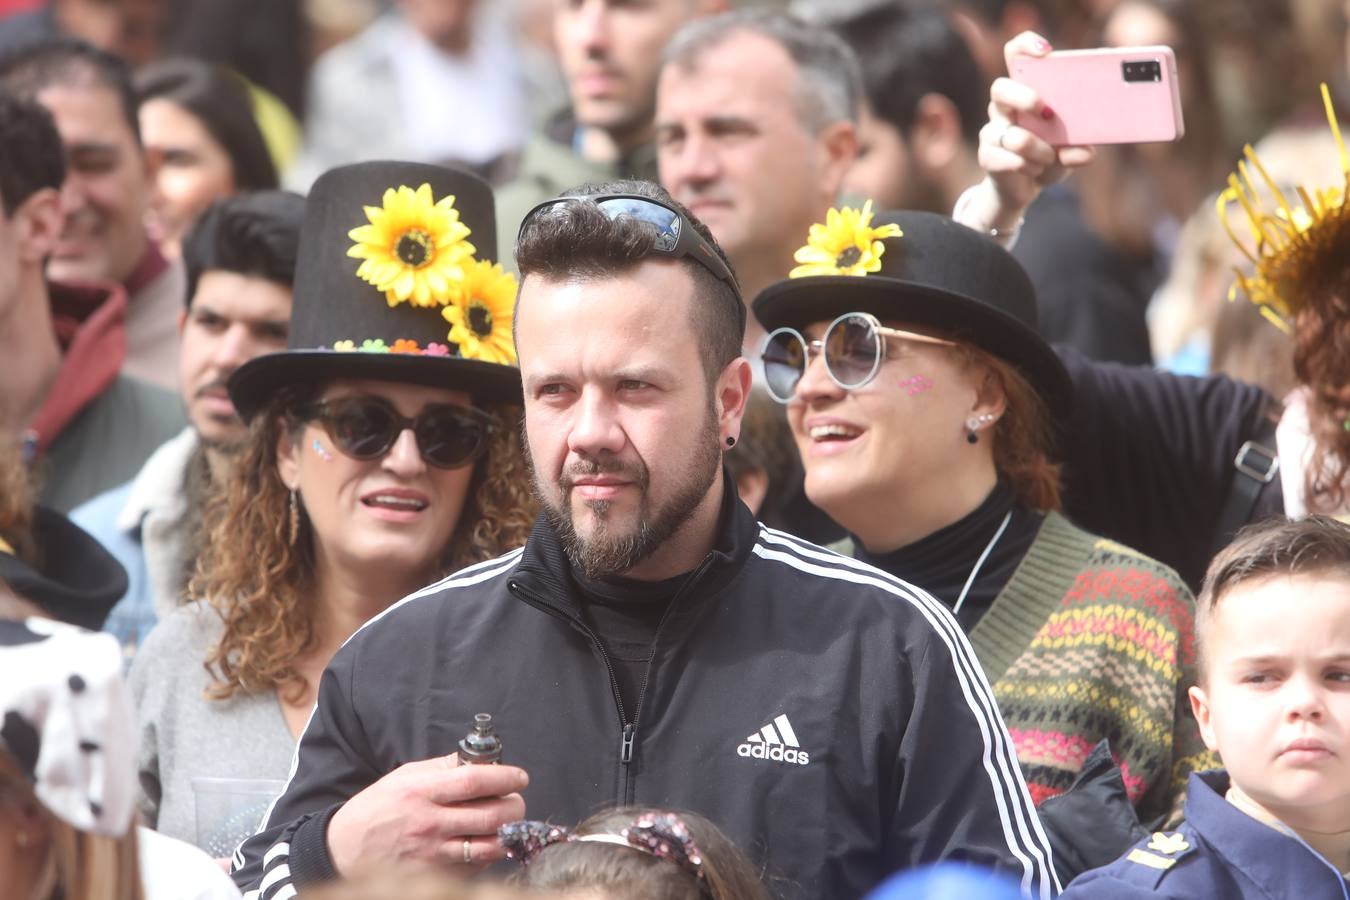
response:
[(294, 385), (370, 379), (468, 393), (481, 405), (521, 402), (520, 370), (479, 359), (413, 354), (289, 349), (258, 356), (230, 378), (230, 401), (246, 422)]

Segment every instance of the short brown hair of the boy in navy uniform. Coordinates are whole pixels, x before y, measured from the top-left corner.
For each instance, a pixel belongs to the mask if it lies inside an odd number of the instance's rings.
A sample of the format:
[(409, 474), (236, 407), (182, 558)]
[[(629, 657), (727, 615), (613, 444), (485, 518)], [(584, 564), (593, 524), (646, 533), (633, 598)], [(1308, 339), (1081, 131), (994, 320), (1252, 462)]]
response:
[(1238, 532), (1204, 573), (1196, 598), (1197, 673), (1206, 677), (1206, 640), (1223, 595), (1246, 582), (1341, 571), (1350, 579), (1350, 525), (1328, 515), (1273, 518)]

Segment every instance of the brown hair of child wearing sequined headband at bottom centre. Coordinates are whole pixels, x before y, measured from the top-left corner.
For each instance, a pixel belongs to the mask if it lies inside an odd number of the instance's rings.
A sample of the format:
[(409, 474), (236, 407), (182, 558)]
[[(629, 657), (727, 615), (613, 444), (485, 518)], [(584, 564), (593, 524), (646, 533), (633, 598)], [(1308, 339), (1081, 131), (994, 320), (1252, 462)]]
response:
[(548, 891), (595, 891), (606, 897), (647, 900), (768, 900), (760, 873), (721, 828), (694, 812), (676, 812), (698, 847), (702, 878), (670, 858), (632, 846), (578, 841), (585, 835), (622, 835), (644, 815), (667, 811), (620, 807), (597, 814), (528, 857), (513, 881)]

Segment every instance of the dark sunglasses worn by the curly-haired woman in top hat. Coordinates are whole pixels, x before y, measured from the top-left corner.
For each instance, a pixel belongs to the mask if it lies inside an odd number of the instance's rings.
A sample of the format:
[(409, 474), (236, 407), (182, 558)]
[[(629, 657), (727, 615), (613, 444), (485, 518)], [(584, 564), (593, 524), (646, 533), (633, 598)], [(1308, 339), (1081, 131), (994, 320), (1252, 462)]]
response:
[(417, 452), (437, 468), (459, 468), (478, 459), (494, 428), (491, 416), (468, 406), (431, 403), (408, 418), (379, 397), (320, 401), (300, 409), (297, 418), (321, 425), (339, 451), (359, 460), (379, 459), (410, 428)]

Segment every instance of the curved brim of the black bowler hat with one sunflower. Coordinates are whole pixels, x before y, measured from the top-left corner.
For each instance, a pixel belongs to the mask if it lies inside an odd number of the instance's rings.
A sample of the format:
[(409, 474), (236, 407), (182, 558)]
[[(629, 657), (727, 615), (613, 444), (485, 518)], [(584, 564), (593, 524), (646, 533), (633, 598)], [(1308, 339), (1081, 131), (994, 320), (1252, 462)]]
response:
[(1018, 318), (956, 291), (886, 275), (811, 275), (770, 285), (753, 309), (765, 331), (801, 331), (852, 312), (932, 328), (1017, 367), (1057, 422), (1073, 410), (1073, 383), (1045, 339)]

